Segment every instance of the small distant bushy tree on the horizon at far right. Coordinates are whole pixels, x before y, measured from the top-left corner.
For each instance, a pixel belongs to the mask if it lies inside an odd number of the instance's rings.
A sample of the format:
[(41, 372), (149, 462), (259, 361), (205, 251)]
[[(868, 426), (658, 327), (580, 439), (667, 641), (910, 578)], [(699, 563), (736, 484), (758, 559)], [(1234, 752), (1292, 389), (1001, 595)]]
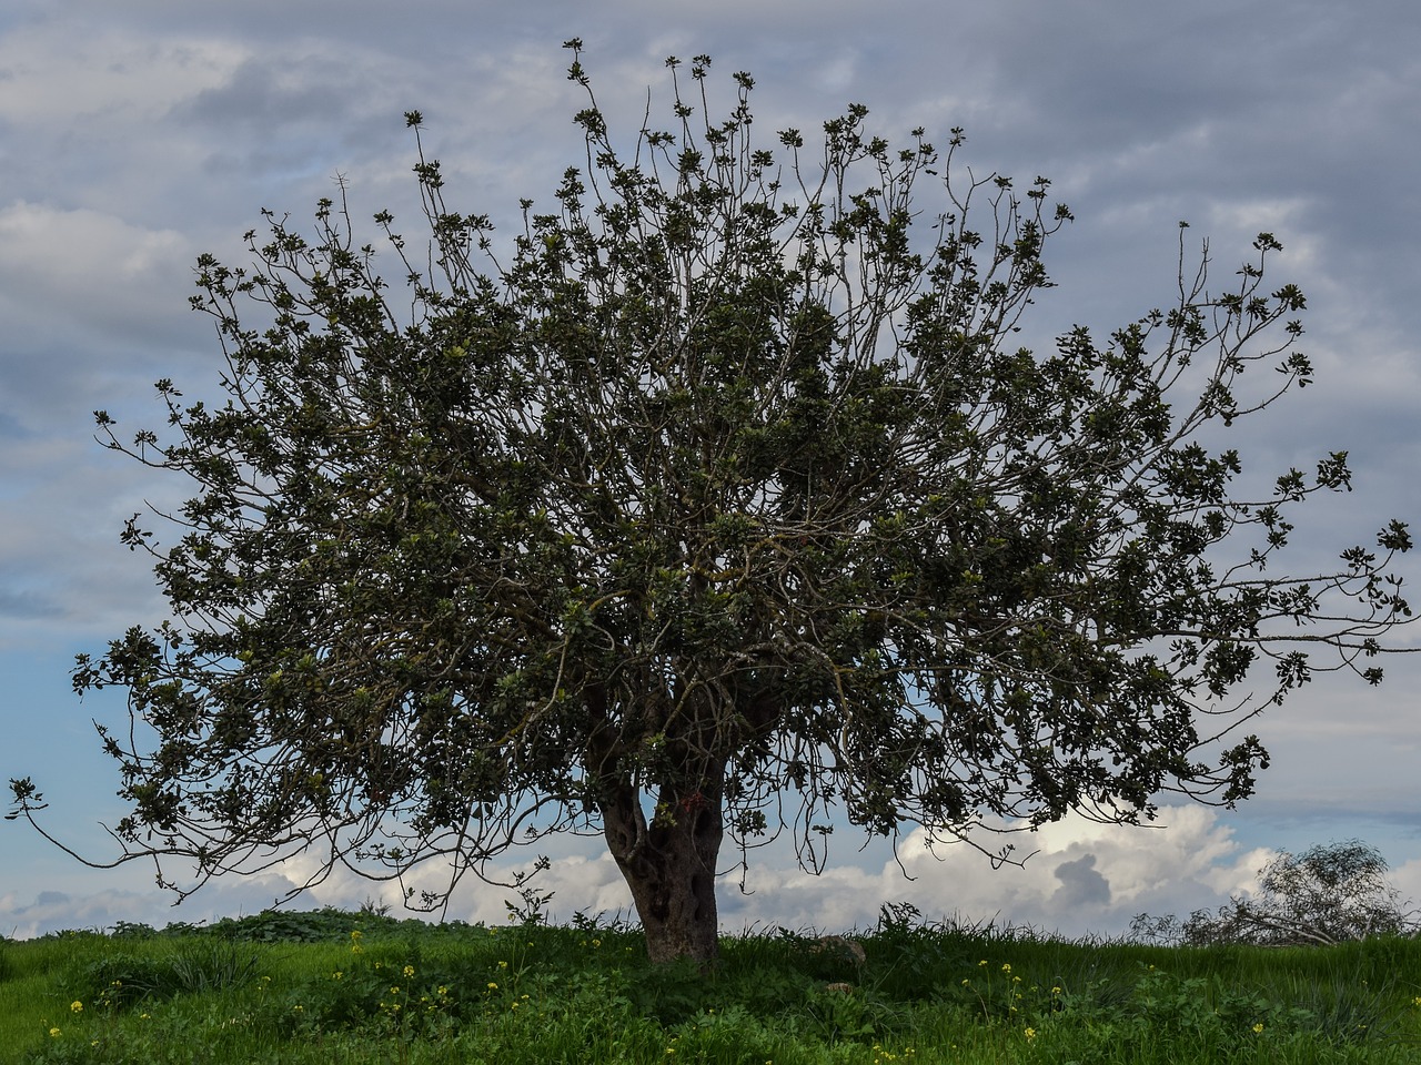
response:
[(1233, 896), (1216, 914), (1196, 910), (1185, 943), (1331, 946), (1368, 936), (1414, 932), (1414, 914), (1387, 880), (1381, 853), (1357, 839), (1286, 851), (1259, 869), (1259, 890)]

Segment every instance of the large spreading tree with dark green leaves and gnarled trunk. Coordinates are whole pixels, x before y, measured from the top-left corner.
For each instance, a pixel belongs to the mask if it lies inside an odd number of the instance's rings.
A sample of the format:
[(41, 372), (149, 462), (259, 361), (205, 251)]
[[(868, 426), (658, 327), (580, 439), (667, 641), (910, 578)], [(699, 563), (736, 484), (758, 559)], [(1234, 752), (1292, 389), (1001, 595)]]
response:
[(161, 381), (163, 442), (97, 412), (195, 486), (173, 542), (124, 531), (172, 616), (74, 673), (128, 693), (134, 727), (99, 726), (122, 861), (192, 886), (297, 851), (438, 861), (452, 888), (601, 832), (651, 956), (705, 960), (728, 832), (743, 863), (789, 831), (817, 870), (834, 819), (975, 841), (1233, 804), (1266, 764), (1243, 720), (1314, 669), (1381, 679), (1405, 527), (1282, 575), (1346, 454), (1249, 500), (1219, 447), (1312, 375), (1270, 234), (1214, 293), (1181, 231), (1169, 310), (1033, 354), (1071, 217), (1046, 179), (963, 183), (961, 131), (892, 149), (858, 105), (821, 148), (760, 146), (747, 74), (710, 118), (708, 57), (668, 61), (669, 128), (618, 146), (568, 44), (585, 166), (509, 246), (421, 148), (428, 246), (375, 216), (404, 293), (344, 189), (314, 239), (267, 214), (253, 268), (199, 260), (223, 405)]

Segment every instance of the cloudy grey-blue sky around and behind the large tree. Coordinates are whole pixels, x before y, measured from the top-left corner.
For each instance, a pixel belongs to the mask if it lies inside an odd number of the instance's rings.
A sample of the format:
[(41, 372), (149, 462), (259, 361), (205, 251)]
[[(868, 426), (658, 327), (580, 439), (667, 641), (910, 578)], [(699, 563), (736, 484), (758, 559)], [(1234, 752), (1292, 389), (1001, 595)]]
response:
[[(425, 115), (450, 206), (510, 227), (580, 160), (571, 37), (614, 126), (664, 99), (668, 55), (713, 57), (713, 89), (756, 78), (770, 131), (817, 129), (850, 102), (890, 139), (966, 131), (975, 173), (1036, 175), (1076, 222), (1049, 250), (1059, 287), (1029, 335), (1098, 332), (1167, 305), (1178, 222), (1228, 278), (1268, 230), (1276, 277), (1309, 298), (1316, 385), (1246, 430), (1250, 469), (1309, 469), (1347, 450), (1356, 490), (1300, 513), (1295, 565), (1421, 518), (1421, 7), (1414, 0), (7, 0), (0, 9), (0, 780), (31, 777), (45, 825), (88, 858), (122, 815), (68, 673), (162, 616), (152, 574), (118, 542), (180, 486), (92, 439), (92, 410), (161, 425), (152, 390), (210, 392), (220, 349), (188, 310), (193, 261), (243, 261), (260, 209), (310, 217), (344, 179), (357, 217), (414, 203), (404, 112)], [(374, 227), (368, 230), (375, 236)], [(1196, 247), (1191, 246), (1191, 251)], [(1407, 568), (1410, 567), (1410, 568)], [(1414, 561), (1403, 572), (1421, 581)], [(1398, 646), (1421, 643), (1414, 630)], [(1272, 768), (1235, 811), (1167, 805), (1161, 828), (1070, 818), (1023, 868), (971, 848), (897, 858), (836, 836), (809, 876), (780, 849), (720, 886), (722, 923), (843, 930), (880, 906), (926, 917), (1113, 934), (1140, 912), (1187, 914), (1255, 885), (1277, 849), (1360, 838), (1421, 899), (1421, 655), (1387, 682), (1324, 676), (1256, 723)], [(597, 841), (560, 845), (554, 916), (625, 909)], [(726, 855), (728, 865), (736, 861)], [(531, 856), (529, 856), (531, 862)], [(252, 913), (281, 876), (219, 882), (179, 909), (153, 870), (90, 869), (23, 822), (0, 822), (0, 936)], [(355, 906), (379, 886), (337, 878), (298, 905)], [(509, 892), (472, 888), (449, 916), (500, 920)]]

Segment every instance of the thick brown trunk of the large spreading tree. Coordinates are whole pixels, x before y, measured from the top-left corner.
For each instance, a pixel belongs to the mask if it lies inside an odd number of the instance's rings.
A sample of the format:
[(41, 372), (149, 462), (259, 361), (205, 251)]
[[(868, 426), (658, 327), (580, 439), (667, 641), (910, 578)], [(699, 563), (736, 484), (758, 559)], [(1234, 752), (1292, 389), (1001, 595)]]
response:
[(605, 802), (603, 832), (631, 888), (652, 961), (688, 957), (705, 966), (719, 953), (715, 869), (725, 835), (720, 802), (720, 780), (676, 797), (662, 790), (649, 824), (634, 787), (617, 788)]

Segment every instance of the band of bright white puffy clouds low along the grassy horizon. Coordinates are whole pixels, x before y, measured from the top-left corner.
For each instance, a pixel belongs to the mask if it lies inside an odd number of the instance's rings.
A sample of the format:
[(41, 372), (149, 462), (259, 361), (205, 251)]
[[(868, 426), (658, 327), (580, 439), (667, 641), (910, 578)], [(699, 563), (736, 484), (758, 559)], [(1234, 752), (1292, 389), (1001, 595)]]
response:
[[(902, 841), (901, 866), (892, 858), (877, 869), (860, 861), (857, 865), (830, 865), (818, 876), (796, 868), (783, 848), (777, 852), (772, 848), (772, 853), (753, 861), (746, 870), (745, 890), (739, 872), (729, 870), (719, 878), (720, 926), (732, 933), (755, 927), (843, 932), (872, 927), (885, 903), (909, 903), (925, 920), (996, 922), (1066, 936), (1117, 934), (1141, 912), (1184, 916), (1218, 906), (1231, 893), (1250, 890), (1256, 885), (1256, 870), (1273, 855), (1268, 849), (1242, 848), (1233, 831), (1202, 807), (1164, 808), (1161, 822), (1169, 824), (1169, 829), (1067, 818), (1032, 836), (1036, 853), (1025, 865), (998, 869), (966, 845), (929, 849), (921, 832)], [(539, 895), (551, 893), (546, 912), (554, 920), (567, 922), (578, 912), (634, 916), (631, 893), (598, 839), (563, 838), (544, 843), (553, 855), (551, 865), (536, 873), (529, 886)], [(728, 858), (733, 859), (722, 855), (723, 862)], [(446, 916), (485, 924), (504, 923), (509, 903), (524, 905), (519, 892), (506, 885), (516, 872), (530, 872), (531, 866), (529, 856), (523, 862), (490, 868), (490, 879), (503, 880), (504, 886), (469, 878), (452, 897)], [(10, 892), (0, 896), (0, 927), (13, 926), (20, 930), (16, 934), (24, 937), (115, 920), (155, 926), (171, 920), (212, 920), (270, 906), (317, 872), (314, 858), (297, 856), (261, 876), (213, 882), (176, 909), (168, 906), (171, 899), (162, 893), (132, 888), (92, 895), (68, 889), (64, 897), (51, 892), (34, 903), (21, 903), (17, 893)], [(398, 913), (404, 888), (418, 892), (442, 886), (442, 876), (439, 869), (428, 868), (402, 885), (381, 885), (342, 868), (291, 906), (358, 909), (375, 900)]]

